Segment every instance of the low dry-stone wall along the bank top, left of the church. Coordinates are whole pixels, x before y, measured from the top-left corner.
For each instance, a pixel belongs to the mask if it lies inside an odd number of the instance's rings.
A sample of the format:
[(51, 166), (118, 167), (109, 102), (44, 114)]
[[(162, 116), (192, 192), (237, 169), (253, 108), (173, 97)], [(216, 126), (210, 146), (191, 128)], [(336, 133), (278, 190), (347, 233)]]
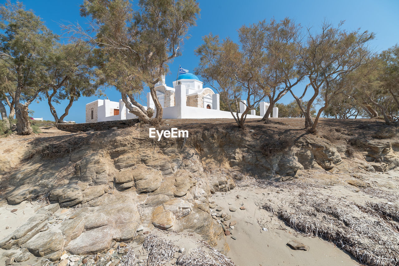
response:
[(79, 123), (79, 124), (55, 124), (59, 130), (67, 132), (79, 132), (79, 131), (99, 131), (107, 130), (111, 128), (127, 128), (138, 123), (138, 118), (126, 119), (126, 120), (114, 120), (104, 122), (91, 122), (91, 123)]

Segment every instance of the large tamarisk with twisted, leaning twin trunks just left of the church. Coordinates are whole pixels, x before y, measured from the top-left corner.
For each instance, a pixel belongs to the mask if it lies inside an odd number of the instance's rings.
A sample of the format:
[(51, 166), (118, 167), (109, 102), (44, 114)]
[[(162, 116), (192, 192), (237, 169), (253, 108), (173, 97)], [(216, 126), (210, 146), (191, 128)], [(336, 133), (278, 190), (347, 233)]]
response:
[[(85, 0), (81, 16), (90, 19), (89, 29), (79, 24), (64, 28), (97, 48), (103, 59), (100, 75), (120, 91), (129, 112), (144, 122), (159, 123), (162, 105), (155, 84), (168, 72), (168, 63), (181, 55), (198, 15), (195, 0), (140, 0), (137, 10), (128, 0)], [(156, 107), (154, 119), (153, 111), (136, 100), (145, 87)]]

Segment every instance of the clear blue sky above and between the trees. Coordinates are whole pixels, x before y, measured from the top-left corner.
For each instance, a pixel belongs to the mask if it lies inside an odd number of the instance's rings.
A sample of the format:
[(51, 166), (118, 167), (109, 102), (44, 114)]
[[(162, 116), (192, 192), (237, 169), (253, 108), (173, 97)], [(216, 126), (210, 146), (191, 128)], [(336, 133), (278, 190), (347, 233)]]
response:
[[(4, 1), (3, 1), (4, 2)], [(14, 2), (14, 1), (13, 1)], [(46, 26), (57, 34), (61, 34), (59, 23), (63, 20), (84, 24), (86, 19), (79, 16), (79, 5), (83, 0), (26, 0), (22, 1), (27, 9), (34, 10)], [(137, 2), (137, 1), (133, 1)], [(183, 55), (170, 65), (170, 73), (166, 76), (166, 84), (172, 86), (176, 79), (179, 65), (192, 71), (198, 64), (194, 49), (201, 43), (201, 38), (209, 32), (221, 38), (231, 37), (237, 40), (237, 29), (244, 24), (256, 23), (259, 20), (276, 20), (290, 17), (302, 26), (318, 27), (326, 18), (334, 24), (346, 20), (344, 28), (347, 30), (369, 30), (377, 37), (372, 45), (377, 51), (382, 51), (399, 43), (399, 1), (398, 0), (199, 0), (201, 17), (197, 26), (189, 32), (191, 38), (185, 42)], [(299, 88), (298, 88), (299, 89)], [(118, 101), (120, 93), (113, 88), (105, 90), (110, 100)], [(82, 97), (73, 103), (66, 120), (85, 122), (85, 104), (97, 97)], [(286, 95), (281, 102), (292, 100)], [(63, 113), (65, 103), (57, 106), (57, 112)], [(34, 117), (53, 120), (47, 102), (32, 103)]]

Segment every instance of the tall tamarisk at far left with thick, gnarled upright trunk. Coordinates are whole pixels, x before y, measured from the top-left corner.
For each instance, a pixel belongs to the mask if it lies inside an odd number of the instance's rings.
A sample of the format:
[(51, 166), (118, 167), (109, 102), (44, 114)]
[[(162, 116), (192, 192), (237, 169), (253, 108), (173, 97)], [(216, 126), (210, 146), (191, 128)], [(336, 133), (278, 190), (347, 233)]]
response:
[(3, 91), (4, 99), (14, 106), (17, 134), (31, 134), (28, 107), (47, 88), (45, 65), (57, 35), (19, 2), (0, 6), (0, 29), (0, 60), (11, 83)]

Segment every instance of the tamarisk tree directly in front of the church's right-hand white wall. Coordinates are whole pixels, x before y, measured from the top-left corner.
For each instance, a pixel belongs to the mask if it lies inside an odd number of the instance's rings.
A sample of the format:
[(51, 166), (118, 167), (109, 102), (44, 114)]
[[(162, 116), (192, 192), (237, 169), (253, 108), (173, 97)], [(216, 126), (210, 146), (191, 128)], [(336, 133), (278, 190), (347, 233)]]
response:
[[(247, 114), (256, 109), (268, 92), (267, 78), (264, 77), (269, 72), (262, 50), (265, 35), (259, 32), (257, 25), (241, 28), (240, 45), (229, 38), (219, 41), (218, 36), (209, 34), (203, 37), (203, 44), (196, 49), (200, 61), (195, 73), (219, 92), (240, 128), (245, 128)], [(242, 98), (246, 100), (246, 108), (240, 115)]]

